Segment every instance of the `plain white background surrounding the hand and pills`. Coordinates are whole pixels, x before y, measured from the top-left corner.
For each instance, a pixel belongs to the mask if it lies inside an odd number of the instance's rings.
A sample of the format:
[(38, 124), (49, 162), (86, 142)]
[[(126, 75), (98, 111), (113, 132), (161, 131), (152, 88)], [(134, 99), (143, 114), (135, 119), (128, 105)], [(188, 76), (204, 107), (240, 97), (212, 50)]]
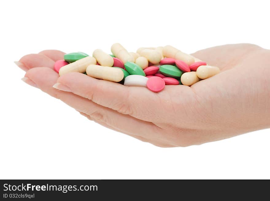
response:
[(115, 42), (133, 52), (171, 44), (192, 53), (244, 42), (270, 49), (267, 2), (5, 1), (0, 179), (270, 179), (269, 129), (200, 146), (155, 147), (23, 83), (25, 73), (13, 63), (44, 49), (109, 53)]

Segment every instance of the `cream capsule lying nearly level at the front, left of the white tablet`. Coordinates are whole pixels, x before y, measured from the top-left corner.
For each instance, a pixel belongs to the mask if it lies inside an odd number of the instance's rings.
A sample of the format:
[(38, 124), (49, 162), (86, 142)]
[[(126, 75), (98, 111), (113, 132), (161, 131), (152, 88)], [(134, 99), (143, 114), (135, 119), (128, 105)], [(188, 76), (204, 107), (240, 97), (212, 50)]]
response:
[(109, 66), (99, 66), (94, 64), (87, 67), (86, 74), (94, 78), (112, 82), (120, 82), (124, 78), (124, 73), (119, 68), (111, 68)]

